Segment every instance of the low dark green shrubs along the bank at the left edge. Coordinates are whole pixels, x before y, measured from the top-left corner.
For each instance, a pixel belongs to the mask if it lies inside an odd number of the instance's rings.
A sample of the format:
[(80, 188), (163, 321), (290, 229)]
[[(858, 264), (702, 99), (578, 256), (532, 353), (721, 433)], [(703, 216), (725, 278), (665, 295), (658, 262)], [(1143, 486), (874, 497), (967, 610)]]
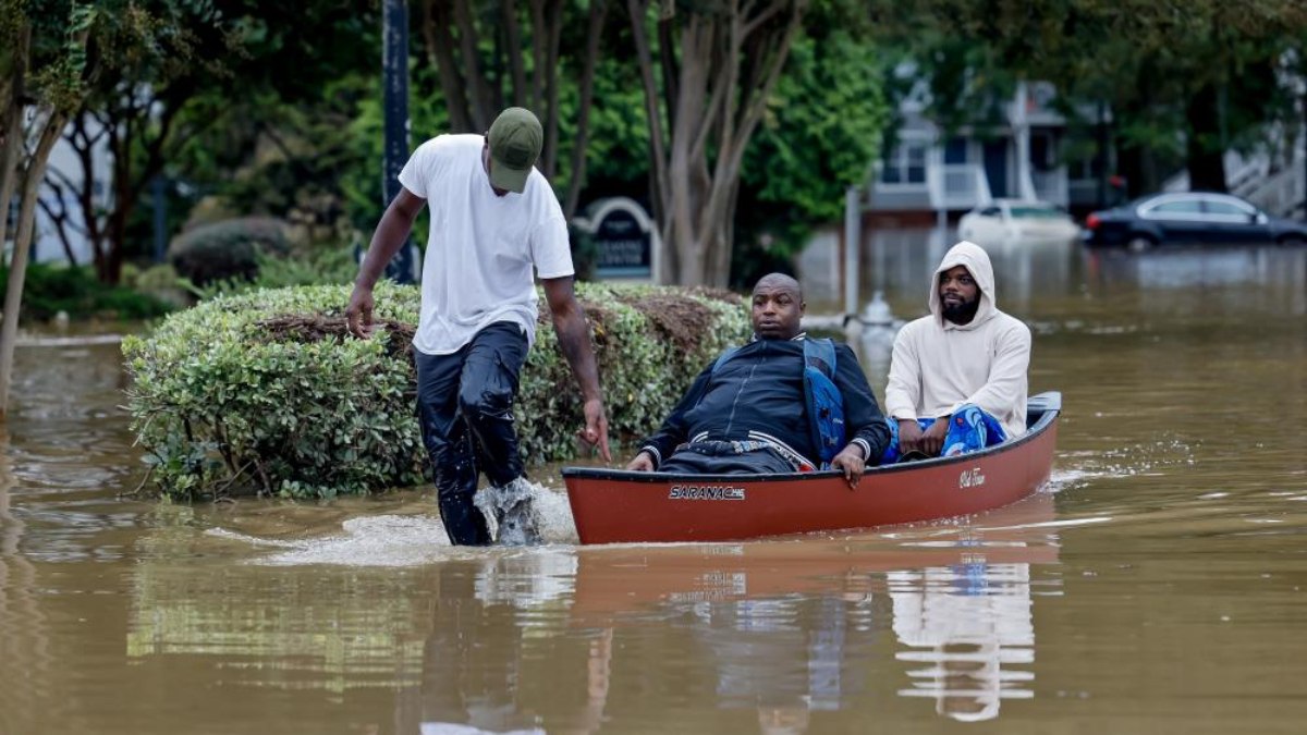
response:
[[(0, 298), (9, 268), (0, 267)], [(64, 311), (71, 318), (110, 316), (124, 320), (162, 316), (173, 307), (149, 294), (99, 282), (89, 268), (31, 263), (22, 289), (22, 318), (44, 322)]]

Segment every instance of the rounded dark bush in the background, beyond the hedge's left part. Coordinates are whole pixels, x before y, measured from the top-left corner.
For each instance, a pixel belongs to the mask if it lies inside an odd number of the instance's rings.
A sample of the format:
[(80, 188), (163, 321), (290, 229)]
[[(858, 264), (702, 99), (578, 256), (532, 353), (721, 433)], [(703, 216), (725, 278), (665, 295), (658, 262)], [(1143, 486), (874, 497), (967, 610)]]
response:
[(259, 254), (289, 252), (285, 225), (271, 217), (242, 217), (200, 225), (169, 245), (169, 263), (183, 279), (205, 285), (225, 279), (251, 279)]

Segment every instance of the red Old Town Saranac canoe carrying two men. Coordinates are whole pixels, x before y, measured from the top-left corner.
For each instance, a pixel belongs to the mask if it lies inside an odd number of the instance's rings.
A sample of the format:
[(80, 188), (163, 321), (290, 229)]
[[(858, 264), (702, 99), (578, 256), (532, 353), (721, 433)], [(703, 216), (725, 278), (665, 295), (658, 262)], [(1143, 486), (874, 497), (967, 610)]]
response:
[(1052, 471), (1061, 394), (1034, 396), (1030, 432), (962, 456), (838, 472), (670, 475), (563, 468), (583, 544), (718, 541), (966, 515), (1035, 492)]

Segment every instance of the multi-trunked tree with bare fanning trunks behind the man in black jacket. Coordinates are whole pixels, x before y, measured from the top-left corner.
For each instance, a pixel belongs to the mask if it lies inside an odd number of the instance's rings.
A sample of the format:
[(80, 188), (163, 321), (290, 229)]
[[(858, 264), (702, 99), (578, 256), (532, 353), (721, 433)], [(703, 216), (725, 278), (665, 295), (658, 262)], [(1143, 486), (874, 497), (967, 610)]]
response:
[(650, 188), (673, 282), (727, 284), (744, 154), (806, 7), (627, 0), (650, 127)]

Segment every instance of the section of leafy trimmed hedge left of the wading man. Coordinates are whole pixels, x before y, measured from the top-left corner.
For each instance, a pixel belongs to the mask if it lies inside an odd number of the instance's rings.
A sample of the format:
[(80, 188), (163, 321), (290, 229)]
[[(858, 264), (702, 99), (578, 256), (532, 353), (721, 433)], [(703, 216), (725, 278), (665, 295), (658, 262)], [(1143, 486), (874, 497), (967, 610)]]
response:
[[(379, 319), (416, 320), (416, 289), (376, 293)], [(339, 314), (346, 298), (342, 286), (220, 297), (124, 340), (132, 426), (166, 493), (331, 497), (420, 481), (403, 349), (386, 337), (301, 341), (261, 326)]]

